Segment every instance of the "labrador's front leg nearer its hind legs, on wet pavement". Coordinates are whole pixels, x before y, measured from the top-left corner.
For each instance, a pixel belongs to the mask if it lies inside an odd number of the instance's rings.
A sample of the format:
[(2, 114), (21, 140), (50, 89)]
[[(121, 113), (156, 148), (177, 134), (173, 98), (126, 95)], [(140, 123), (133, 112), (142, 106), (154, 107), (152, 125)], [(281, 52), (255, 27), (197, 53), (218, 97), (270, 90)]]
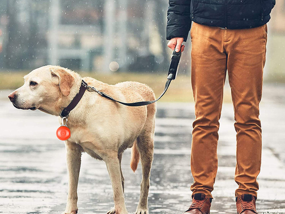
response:
[(109, 213), (115, 212), (116, 214), (126, 214), (128, 212), (125, 205), (118, 154), (108, 154), (108, 157), (104, 159), (110, 175), (113, 187), (113, 199), (115, 203), (115, 210), (111, 210), (112, 212), (109, 211)]

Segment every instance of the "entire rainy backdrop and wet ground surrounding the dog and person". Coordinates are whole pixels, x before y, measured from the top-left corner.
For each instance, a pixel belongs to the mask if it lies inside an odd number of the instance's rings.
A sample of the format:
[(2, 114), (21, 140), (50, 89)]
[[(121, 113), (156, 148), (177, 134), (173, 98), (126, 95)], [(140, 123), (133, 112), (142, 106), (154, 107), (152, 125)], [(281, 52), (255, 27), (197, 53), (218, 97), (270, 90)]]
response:
[[(23, 85), (25, 74), (53, 64), (109, 84), (143, 82), (159, 96), (172, 53), (166, 41), (167, 9), (167, 0), (0, 0), (0, 213), (61, 213), (67, 196), (65, 146), (55, 135), (57, 119), (14, 108), (8, 94)], [(276, 1), (271, 17), (260, 103), (257, 210), (285, 213), (285, 0)], [(185, 45), (178, 76), (157, 102), (150, 213), (183, 213), (191, 202), (195, 115), (190, 39)], [(219, 122), (211, 213), (234, 214), (236, 132), (228, 81)], [(134, 213), (141, 167), (134, 174), (129, 160), (127, 150), (122, 160), (125, 197)], [(78, 195), (79, 213), (106, 213), (113, 206), (105, 163), (82, 155)]]

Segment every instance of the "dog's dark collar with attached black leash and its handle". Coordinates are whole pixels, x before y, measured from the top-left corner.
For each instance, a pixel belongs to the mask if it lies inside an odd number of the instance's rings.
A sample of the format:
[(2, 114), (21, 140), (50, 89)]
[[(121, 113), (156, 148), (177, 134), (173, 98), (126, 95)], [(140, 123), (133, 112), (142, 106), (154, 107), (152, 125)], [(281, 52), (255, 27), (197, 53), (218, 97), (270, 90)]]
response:
[(168, 77), (167, 77), (167, 81), (165, 83), (164, 90), (163, 90), (162, 94), (156, 100), (132, 102), (132, 103), (121, 102), (121, 101), (115, 100), (113, 97), (109, 96), (108, 94), (105, 94), (104, 92), (101, 92), (101, 91), (97, 90), (94, 87), (88, 86), (87, 83), (84, 82), (84, 80), (82, 80), (82, 83), (81, 83), (81, 86), (80, 86), (78, 94), (76, 94), (76, 96), (73, 98), (73, 100), (70, 102), (70, 104), (66, 108), (64, 108), (62, 110), (62, 112), (60, 113), (60, 117), (62, 117), (62, 118), (63, 117), (66, 117), (66, 118), (68, 117), (68, 114), (78, 104), (78, 102), (82, 98), (82, 96), (83, 96), (83, 94), (84, 94), (86, 89), (87, 89), (87, 91), (95, 91), (98, 94), (100, 94), (102, 97), (105, 97), (105, 98), (107, 98), (109, 100), (112, 100), (112, 101), (115, 101), (115, 102), (118, 102), (118, 103), (121, 103), (121, 104), (123, 104), (125, 106), (145, 106), (145, 105), (148, 105), (148, 104), (152, 104), (152, 103), (156, 102), (157, 100), (159, 100), (165, 94), (165, 92), (167, 91), (167, 89), (168, 89), (168, 87), (170, 85), (171, 80), (175, 80), (176, 74), (177, 74), (177, 71), (178, 71), (178, 68), (179, 68), (180, 59), (181, 59), (181, 47), (180, 47), (180, 51), (179, 52), (176, 52), (174, 50), (173, 53), (172, 53), (171, 60), (170, 60), (170, 66), (169, 66), (169, 70), (168, 70)]

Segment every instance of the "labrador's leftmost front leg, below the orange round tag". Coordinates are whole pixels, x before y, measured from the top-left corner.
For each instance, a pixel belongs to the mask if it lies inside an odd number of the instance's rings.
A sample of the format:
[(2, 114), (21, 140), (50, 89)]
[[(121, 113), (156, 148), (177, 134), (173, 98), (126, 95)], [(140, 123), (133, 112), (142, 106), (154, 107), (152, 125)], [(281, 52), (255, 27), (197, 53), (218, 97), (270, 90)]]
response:
[(68, 171), (68, 196), (66, 209), (62, 214), (76, 214), (78, 211), (77, 185), (81, 164), (82, 147), (69, 141), (66, 141), (65, 146)]

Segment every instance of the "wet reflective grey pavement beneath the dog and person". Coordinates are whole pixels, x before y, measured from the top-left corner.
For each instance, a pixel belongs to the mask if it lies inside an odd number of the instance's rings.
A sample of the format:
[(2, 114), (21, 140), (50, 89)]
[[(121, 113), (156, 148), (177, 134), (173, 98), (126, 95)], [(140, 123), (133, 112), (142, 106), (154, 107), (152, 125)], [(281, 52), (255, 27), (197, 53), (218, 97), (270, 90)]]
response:
[[(285, 87), (264, 87), (260, 104), (262, 166), (258, 176), (257, 211), (285, 213)], [(67, 197), (64, 142), (58, 140), (55, 116), (18, 110), (0, 93), (0, 213), (62, 213)], [(158, 102), (154, 161), (148, 197), (149, 213), (183, 213), (191, 203), (190, 146), (193, 103)], [(219, 167), (211, 213), (236, 213), (234, 191), (235, 130), (232, 104), (223, 104), (220, 119)], [(141, 166), (130, 166), (130, 149), (123, 154), (125, 201), (135, 213)], [(113, 207), (106, 165), (82, 155), (78, 184), (78, 213), (106, 213)]]

